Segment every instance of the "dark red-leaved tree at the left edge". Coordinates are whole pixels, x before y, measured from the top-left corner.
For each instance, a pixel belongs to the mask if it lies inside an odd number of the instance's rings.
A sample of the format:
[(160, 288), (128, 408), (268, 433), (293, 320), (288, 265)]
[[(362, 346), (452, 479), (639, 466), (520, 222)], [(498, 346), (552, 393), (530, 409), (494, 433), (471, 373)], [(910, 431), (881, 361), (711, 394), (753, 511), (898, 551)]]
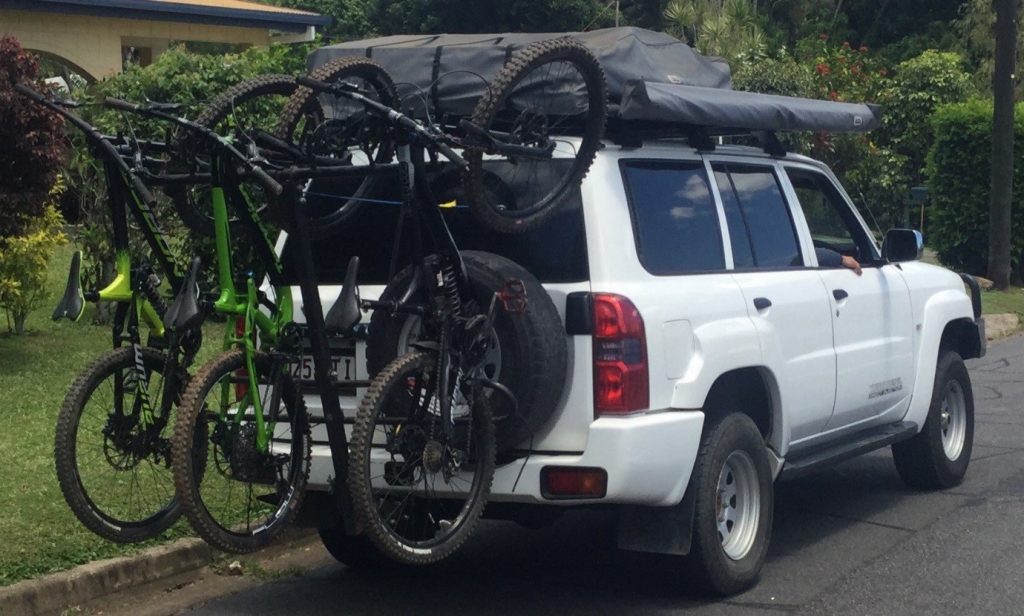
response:
[(13, 89), (41, 88), (38, 75), (36, 56), (13, 37), (0, 37), (0, 241), (43, 214), (63, 160), (60, 117)]

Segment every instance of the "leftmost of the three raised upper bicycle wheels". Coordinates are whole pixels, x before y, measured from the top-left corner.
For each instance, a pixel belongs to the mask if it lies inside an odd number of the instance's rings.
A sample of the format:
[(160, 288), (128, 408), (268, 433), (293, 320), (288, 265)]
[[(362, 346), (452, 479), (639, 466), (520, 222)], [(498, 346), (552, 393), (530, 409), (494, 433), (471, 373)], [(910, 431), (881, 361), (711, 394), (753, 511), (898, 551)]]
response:
[[(251, 138), (259, 130), (272, 134), (285, 102), (297, 87), (295, 79), (287, 75), (262, 75), (244, 81), (211, 100), (195, 122), (224, 136)], [(195, 161), (201, 167), (209, 165), (211, 148), (197, 135), (181, 134), (176, 149), (184, 161)], [(267, 199), (258, 183), (246, 182), (241, 188), (257, 211), (266, 207)], [(209, 184), (171, 185), (167, 194), (189, 229), (204, 235), (214, 234)], [(232, 216), (230, 223), (233, 225), (237, 220)]]

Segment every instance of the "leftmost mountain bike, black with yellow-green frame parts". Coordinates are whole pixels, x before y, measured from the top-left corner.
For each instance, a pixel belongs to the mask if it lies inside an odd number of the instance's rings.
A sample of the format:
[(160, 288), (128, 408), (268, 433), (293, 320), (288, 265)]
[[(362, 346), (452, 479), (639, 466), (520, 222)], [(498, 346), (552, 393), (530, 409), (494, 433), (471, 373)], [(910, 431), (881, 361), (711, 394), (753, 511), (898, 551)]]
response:
[[(113, 349), (78, 375), (57, 415), (57, 480), (72, 512), (87, 528), (114, 541), (145, 540), (169, 528), (181, 513), (171, 480), (168, 433), (188, 380), (186, 368), (202, 344), (198, 328), (174, 329), (163, 320), (167, 302), (159, 291), (158, 272), (171, 289), (179, 289), (184, 276), (154, 215), (156, 199), (140, 171), (164, 144), (104, 136), (70, 111), (79, 103), (25, 85), (15, 89), (85, 135), (93, 156), (102, 161), (113, 228), (114, 279), (102, 289), (83, 291), (82, 257), (75, 253), (53, 312), (54, 320), (74, 321), (82, 316), (86, 301), (116, 305)], [(156, 257), (156, 268), (133, 263), (129, 212)], [(145, 342), (143, 328), (150, 332)]]

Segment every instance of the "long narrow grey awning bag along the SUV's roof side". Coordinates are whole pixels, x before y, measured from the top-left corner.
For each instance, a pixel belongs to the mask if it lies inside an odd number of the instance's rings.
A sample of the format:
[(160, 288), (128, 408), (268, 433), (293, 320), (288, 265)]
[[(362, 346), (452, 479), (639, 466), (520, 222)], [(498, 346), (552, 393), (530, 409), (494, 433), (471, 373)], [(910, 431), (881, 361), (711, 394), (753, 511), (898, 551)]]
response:
[(618, 117), (734, 130), (866, 132), (882, 107), (689, 85), (632, 81)]

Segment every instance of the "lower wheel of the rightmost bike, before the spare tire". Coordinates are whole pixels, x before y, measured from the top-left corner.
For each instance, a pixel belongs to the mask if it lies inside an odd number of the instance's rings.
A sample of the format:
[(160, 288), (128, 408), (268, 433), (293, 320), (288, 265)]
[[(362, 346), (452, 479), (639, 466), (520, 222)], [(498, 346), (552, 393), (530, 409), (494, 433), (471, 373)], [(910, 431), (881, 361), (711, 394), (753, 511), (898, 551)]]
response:
[[(389, 558), (424, 565), (473, 532), (495, 474), (495, 426), (485, 396), (456, 388), (451, 439), (442, 436), (432, 356), (387, 365), (359, 405), (348, 487), (366, 534)], [(446, 441), (446, 442), (444, 442)]]

